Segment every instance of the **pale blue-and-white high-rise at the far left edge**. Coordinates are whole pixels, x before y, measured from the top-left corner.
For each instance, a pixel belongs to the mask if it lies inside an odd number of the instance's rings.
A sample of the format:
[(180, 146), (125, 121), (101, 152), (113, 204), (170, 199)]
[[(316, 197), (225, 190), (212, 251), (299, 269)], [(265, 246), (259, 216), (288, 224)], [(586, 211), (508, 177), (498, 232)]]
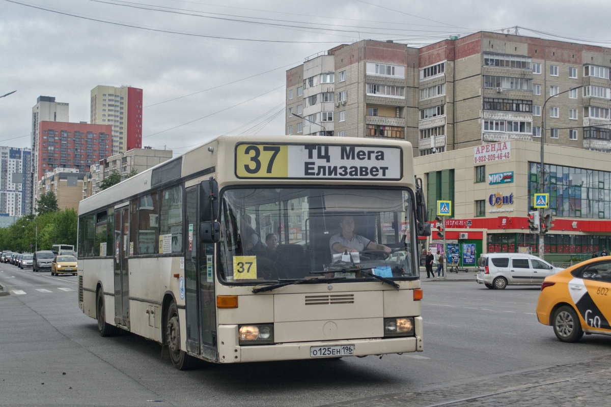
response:
[(20, 217), (32, 213), (32, 152), (0, 147), (0, 214)]

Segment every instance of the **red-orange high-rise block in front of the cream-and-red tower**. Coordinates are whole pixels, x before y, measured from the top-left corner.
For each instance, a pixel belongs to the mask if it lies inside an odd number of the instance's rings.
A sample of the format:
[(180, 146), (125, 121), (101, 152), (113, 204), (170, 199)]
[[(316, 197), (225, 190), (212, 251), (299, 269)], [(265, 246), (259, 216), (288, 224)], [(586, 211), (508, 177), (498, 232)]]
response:
[(110, 156), (111, 132), (108, 124), (42, 121), (36, 142), (33, 200), (39, 196), (38, 181), (46, 173), (56, 168), (73, 168), (85, 173), (91, 165)]

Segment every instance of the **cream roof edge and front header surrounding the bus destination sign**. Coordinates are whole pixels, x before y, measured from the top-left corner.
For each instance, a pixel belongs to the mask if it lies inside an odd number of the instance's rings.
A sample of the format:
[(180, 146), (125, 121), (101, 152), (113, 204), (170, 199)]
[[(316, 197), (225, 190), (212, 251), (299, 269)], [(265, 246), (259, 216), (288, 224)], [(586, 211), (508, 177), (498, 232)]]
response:
[[(97, 211), (101, 207), (125, 202), (131, 196), (139, 195), (147, 190), (157, 189), (164, 185), (171, 185), (179, 179), (201, 178), (208, 179), (210, 174), (215, 175), (219, 181), (219, 188), (224, 185), (252, 184), (253, 179), (241, 179), (236, 176), (235, 157), (236, 145), (244, 144), (273, 144), (273, 145), (301, 145), (301, 146), (357, 146), (357, 148), (400, 148), (401, 167), (400, 178), (386, 181), (383, 179), (329, 179), (308, 178), (299, 179), (300, 184), (354, 184), (354, 185), (401, 185), (414, 187), (414, 170), (412, 158), (412, 145), (406, 140), (373, 139), (362, 137), (323, 137), (314, 135), (250, 135), (233, 136), (222, 135), (211, 139), (202, 145), (186, 151), (180, 156), (173, 157), (155, 167), (148, 168), (119, 184), (100, 191), (79, 203), (79, 215)], [(328, 162), (328, 161), (327, 161)], [(393, 166), (394, 167), (394, 166)], [(257, 178), (257, 184), (295, 184), (291, 178)]]

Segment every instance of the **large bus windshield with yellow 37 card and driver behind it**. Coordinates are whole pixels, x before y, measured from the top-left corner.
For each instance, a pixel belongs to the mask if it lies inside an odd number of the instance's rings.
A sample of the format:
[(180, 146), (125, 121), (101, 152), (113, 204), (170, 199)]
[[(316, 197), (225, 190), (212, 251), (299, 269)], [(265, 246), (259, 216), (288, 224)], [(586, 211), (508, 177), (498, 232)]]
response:
[(258, 284), (315, 276), (371, 281), (371, 273), (418, 278), (412, 225), (412, 194), (404, 189), (225, 190), (221, 282)]

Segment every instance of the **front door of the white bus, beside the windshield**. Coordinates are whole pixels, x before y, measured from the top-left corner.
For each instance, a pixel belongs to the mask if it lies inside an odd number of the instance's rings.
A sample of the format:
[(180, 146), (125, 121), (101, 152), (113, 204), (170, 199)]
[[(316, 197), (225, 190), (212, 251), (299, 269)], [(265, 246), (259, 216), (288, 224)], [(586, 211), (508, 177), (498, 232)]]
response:
[(199, 243), (199, 185), (186, 189), (186, 342), (192, 353), (216, 360), (214, 244)]

